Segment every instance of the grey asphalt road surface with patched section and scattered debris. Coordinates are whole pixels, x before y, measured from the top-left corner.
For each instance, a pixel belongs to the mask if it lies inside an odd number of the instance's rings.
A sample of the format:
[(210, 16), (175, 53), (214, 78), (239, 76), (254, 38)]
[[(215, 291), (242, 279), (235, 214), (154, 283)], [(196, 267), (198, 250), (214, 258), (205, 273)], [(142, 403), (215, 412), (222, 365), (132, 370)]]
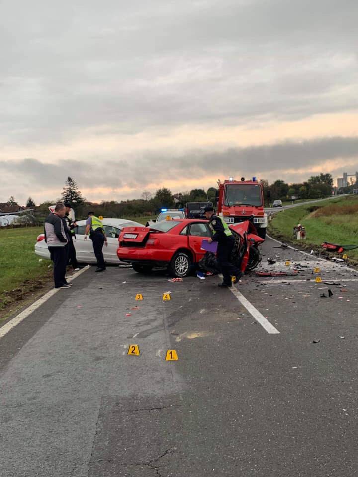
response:
[(356, 476), (358, 273), (278, 245), (260, 269), (297, 276), (236, 285), (276, 334), (218, 277), (118, 267), (90, 268), (9, 331), (0, 476)]

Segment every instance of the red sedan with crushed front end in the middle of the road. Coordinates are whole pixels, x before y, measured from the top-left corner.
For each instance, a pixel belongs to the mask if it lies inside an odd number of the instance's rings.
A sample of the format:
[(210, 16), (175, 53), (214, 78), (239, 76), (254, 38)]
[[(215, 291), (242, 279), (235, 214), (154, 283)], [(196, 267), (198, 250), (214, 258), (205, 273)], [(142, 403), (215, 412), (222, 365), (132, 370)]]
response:
[[(245, 267), (249, 249), (253, 248), (250, 245), (256, 239), (257, 243), (263, 241), (256, 235), (253, 235), (255, 239), (248, 239), (248, 230), (244, 232), (245, 227), (247, 229), (250, 226), (250, 223), (245, 225), (247, 222), (230, 227), (236, 233), (237, 248), (245, 249), (241, 254), (241, 258), (247, 255), (242, 260)], [(237, 228), (240, 230), (236, 231)], [(191, 266), (204, 257), (206, 252), (201, 249), (201, 243), (203, 239), (210, 237), (212, 233), (207, 220), (175, 219), (158, 222), (150, 227), (125, 227), (118, 239), (117, 256), (121, 261), (131, 263), (136, 272), (145, 273), (154, 267), (167, 266), (172, 275), (185, 277)], [(258, 252), (255, 254), (256, 258), (257, 256)]]

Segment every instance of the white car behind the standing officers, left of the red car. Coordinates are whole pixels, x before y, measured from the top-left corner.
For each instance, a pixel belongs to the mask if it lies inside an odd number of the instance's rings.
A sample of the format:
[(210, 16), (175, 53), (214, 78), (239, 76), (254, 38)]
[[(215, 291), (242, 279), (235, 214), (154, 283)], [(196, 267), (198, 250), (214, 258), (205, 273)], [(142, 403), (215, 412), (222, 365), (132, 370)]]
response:
[[(94, 256), (92, 240), (85, 237), (86, 220), (77, 220), (77, 227), (74, 229), (76, 240), (74, 245), (76, 249), (76, 258), (79, 263), (97, 263)], [(103, 219), (103, 228), (107, 236), (108, 247), (103, 247), (104, 261), (108, 264), (118, 265), (117, 257), (118, 237), (123, 227), (143, 227), (143, 224), (128, 219)], [(42, 258), (50, 259), (50, 253), (45, 242), (45, 234), (40, 234), (35, 243), (35, 253)]]

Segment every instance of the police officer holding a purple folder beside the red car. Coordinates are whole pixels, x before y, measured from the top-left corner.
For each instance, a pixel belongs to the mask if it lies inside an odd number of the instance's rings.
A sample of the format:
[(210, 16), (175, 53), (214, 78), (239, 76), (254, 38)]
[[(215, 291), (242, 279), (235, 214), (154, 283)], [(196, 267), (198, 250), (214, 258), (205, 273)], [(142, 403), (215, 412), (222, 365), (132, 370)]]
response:
[(235, 277), (234, 283), (237, 283), (242, 275), (241, 271), (237, 269), (231, 262), (231, 253), (234, 247), (234, 237), (227, 223), (222, 217), (215, 215), (212, 205), (207, 205), (204, 208), (205, 217), (210, 220), (210, 228), (213, 236), (209, 239), (210, 242), (218, 242), (216, 259), (223, 274), (223, 282), (219, 283), (219, 288), (230, 288), (232, 285), (231, 277)]

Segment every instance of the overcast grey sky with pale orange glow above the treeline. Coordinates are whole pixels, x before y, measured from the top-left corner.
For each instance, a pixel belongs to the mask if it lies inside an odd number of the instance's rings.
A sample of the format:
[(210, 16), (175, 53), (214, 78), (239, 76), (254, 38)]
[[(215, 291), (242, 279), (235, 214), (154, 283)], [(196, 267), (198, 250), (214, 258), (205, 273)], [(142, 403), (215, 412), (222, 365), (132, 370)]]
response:
[(2, 0), (0, 202), (358, 169), (357, 0)]

